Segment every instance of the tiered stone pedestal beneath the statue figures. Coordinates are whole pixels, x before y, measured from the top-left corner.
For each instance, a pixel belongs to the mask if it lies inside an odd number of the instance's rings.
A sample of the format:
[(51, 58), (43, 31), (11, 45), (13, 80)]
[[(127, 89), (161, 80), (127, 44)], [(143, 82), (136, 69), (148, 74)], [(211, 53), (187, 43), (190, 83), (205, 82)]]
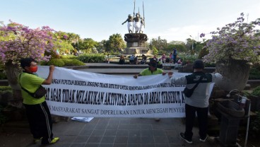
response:
[(124, 54), (152, 54), (153, 52), (146, 47), (148, 37), (143, 33), (128, 33), (124, 35), (126, 41), (126, 48)]

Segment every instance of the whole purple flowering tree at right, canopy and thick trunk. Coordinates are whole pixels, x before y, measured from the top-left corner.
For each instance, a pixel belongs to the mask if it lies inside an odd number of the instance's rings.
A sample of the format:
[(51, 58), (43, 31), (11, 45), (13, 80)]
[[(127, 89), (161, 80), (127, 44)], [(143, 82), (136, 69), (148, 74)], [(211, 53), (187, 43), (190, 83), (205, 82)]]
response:
[[(216, 71), (223, 75), (220, 88), (229, 91), (243, 90), (249, 77), (250, 64), (260, 61), (260, 18), (244, 23), (244, 13), (235, 23), (229, 23), (211, 32), (212, 39), (206, 43), (208, 54), (205, 62), (216, 63)], [(205, 34), (201, 34), (204, 37)]]

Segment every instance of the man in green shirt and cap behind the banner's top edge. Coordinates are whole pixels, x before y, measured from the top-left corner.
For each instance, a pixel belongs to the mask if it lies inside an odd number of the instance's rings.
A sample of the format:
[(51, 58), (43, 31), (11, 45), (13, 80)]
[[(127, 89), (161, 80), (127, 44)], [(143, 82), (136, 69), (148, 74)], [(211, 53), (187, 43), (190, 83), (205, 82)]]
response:
[[(134, 78), (137, 78), (138, 76), (150, 76), (150, 75), (155, 75), (155, 74), (162, 74), (165, 75), (166, 73), (163, 72), (162, 69), (158, 69), (158, 63), (155, 61), (153, 58), (150, 58), (150, 61), (148, 63), (149, 67), (147, 69), (143, 69), (141, 73), (138, 75), (134, 75)], [(155, 118), (155, 121), (159, 122), (159, 118)]]

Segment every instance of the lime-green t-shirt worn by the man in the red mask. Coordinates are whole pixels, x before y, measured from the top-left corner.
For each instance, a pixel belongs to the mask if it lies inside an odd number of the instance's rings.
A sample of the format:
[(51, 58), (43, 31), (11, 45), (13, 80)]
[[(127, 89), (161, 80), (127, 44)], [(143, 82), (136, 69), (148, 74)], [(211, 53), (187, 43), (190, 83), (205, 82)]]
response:
[[(44, 78), (40, 78), (30, 73), (21, 73), (19, 77), (20, 79), (18, 79), (18, 82), (20, 82), (20, 85), (26, 90), (28, 90), (30, 93), (34, 93), (37, 90), (37, 88), (39, 88), (40, 85), (42, 85), (42, 83), (45, 81)], [(42, 98), (33, 98), (25, 90), (22, 89), (21, 91), (24, 104), (35, 105), (45, 102), (45, 96), (43, 96)]]

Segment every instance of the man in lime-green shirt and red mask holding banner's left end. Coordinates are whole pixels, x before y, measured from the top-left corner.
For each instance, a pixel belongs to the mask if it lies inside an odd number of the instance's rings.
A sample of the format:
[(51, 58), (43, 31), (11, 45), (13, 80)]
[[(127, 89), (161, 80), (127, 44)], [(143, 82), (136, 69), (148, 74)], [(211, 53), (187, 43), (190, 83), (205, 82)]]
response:
[(49, 66), (49, 76), (46, 80), (35, 74), (37, 71), (37, 62), (35, 59), (20, 59), (20, 66), (24, 71), (19, 74), (18, 82), (22, 87), (23, 105), (25, 106), (33, 141), (37, 143), (42, 139), (42, 145), (56, 143), (59, 141), (59, 138), (53, 137), (52, 117), (47, 102), (45, 101), (45, 96), (42, 98), (34, 98), (28, 93), (35, 93), (37, 88), (41, 85), (50, 85), (52, 83), (54, 66)]

